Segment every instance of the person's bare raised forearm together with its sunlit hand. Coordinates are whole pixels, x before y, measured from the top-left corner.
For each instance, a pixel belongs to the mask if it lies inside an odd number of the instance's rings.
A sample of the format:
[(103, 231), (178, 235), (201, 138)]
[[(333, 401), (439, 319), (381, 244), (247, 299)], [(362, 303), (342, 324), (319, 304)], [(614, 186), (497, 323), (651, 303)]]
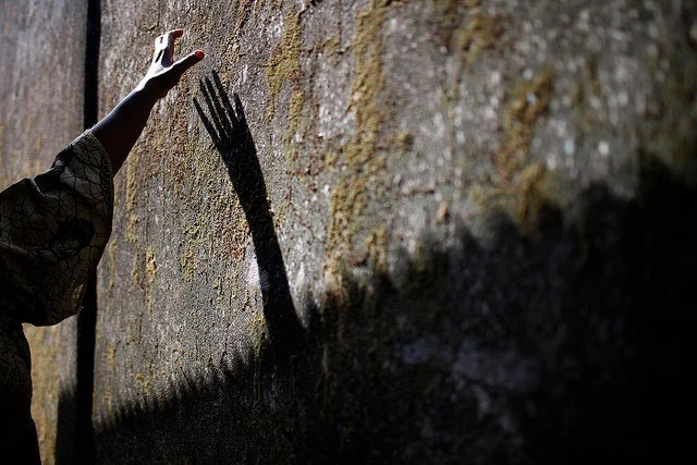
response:
[(107, 151), (114, 174), (140, 136), (155, 103), (179, 83), (186, 70), (204, 59), (204, 52), (196, 50), (173, 61), (174, 41), (183, 33), (173, 29), (155, 39), (152, 63), (140, 83), (91, 129)]

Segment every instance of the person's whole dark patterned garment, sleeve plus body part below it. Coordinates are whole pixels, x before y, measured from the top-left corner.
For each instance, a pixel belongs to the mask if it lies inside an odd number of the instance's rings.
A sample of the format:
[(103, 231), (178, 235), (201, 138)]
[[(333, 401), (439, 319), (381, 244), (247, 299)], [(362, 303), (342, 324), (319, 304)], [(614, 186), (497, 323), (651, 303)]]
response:
[(112, 171), (86, 131), (51, 168), (0, 193), (0, 457), (37, 462), (22, 323), (75, 315), (111, 233)]

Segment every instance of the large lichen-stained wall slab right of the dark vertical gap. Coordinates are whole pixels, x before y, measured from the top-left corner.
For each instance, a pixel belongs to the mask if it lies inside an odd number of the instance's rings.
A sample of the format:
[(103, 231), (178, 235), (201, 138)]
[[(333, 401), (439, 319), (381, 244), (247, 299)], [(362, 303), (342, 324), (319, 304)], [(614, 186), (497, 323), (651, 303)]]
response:
[[(117, 179), (98, 460), (694, 454), (696, 21), (689, 1), (102, 2), (102, 114), (160, 32), (208, 56)], [(265, 186), (195, 111), (210, 70)], [(271, 217), (246, 208), (267, 197)]]

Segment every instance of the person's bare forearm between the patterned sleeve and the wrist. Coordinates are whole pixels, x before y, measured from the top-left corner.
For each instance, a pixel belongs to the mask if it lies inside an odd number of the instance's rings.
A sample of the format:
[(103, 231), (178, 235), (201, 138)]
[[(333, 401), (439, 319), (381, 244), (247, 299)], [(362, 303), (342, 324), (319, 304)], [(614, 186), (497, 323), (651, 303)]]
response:
[(93, 127), (91, 132), (107, 151), (114, 174), (140, 136), (157, 100), (152, 93), (138, 86)]

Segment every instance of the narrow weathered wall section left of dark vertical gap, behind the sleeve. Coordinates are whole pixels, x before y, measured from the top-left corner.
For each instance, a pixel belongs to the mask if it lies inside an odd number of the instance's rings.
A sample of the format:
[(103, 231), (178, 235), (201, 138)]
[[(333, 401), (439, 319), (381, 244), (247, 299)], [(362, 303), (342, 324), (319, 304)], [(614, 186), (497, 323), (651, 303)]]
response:
[[(48, 169), (83, 129), (85, 5), (0, 1), (0, 188)], [(75, 321), (25, 328), (42, 460), (52, 463), (59, 392), (74, 388)], [(66, 405), (61, 415), (70, 416)], [(65, 418), (63, 418), (65, 419)], [(70, 438), (60, 438), (70, 441)]]

